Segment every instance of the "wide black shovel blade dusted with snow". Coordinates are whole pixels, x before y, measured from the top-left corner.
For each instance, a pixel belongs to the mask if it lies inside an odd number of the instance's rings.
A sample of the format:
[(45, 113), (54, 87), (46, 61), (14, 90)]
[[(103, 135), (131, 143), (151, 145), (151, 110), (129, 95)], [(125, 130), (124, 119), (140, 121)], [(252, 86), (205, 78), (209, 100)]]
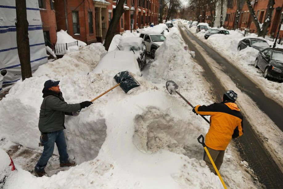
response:
[(119, 72), (114, 76), (117, 83), (120, 83), (120, 87), (127, 93), (129, 90), (140, 86), (140, 84), (133, 78), (128, 71)]

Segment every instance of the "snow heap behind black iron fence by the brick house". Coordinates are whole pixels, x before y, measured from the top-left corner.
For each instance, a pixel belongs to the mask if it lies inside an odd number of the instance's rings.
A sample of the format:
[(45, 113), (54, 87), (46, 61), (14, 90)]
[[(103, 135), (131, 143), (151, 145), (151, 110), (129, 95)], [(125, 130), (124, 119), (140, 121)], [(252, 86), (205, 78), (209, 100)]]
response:
[[(57, 55), (64, 55), (68, 52), (73, 52), (73, 51), (78, 50), (80, 46), (86, 46), (87, 45), (83, 41), (74, 39), (72, 36), (70, 36), (67, 33), (67, 31), (60, 30), (60, 31), (57, 31), (56, 34), (57, 34), (57, 41), (56, 41), (56, 44), (55, 44), (55, 50), (56, 50)], [(65, 48), (64, 46), (65, 46), (66, 43), (72, 43), (72, 42), (75, 42), (75, 41), (78, 41), (78, 46), (72, 45), (72, 46), (68, 47), (68, 50), (64, 49)], [(63, 46), (62, 46), (62, 44), (63, 44)]]

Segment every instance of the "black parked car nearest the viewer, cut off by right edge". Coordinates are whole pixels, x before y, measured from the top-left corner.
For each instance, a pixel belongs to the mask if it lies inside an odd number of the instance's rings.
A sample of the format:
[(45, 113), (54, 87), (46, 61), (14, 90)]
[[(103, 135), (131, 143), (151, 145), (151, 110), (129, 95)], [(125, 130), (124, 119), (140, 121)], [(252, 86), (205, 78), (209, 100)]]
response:
[(283, 49), (266, 48), (258, 52), (254, 66), (264, 72), (264, 78), (283, 81)]

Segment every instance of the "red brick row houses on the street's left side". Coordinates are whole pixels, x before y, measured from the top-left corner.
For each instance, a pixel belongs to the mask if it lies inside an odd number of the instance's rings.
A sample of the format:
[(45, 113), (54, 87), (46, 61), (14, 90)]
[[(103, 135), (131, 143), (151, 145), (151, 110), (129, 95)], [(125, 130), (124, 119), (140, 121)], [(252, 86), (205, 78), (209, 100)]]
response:
[[(46, 46), (57, 41), (56, 32), (67, 30), (86, 44), (105, 39), (117, 1), (112, 0), (38, 0)], [(158, 0), (125, 0), (124, 14), (116, 33), (158, 24)]]

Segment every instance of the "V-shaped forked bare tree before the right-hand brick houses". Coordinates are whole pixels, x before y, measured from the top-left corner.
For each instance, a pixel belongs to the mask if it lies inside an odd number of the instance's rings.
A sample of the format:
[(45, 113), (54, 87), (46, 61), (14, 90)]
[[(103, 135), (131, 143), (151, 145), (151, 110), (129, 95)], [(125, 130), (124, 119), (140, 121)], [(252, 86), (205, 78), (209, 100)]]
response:
[(247, 5), (248, 5), (248, 10), (250, 11), (251, 17), (253, 22), (256, 25), (256, 31), (257, 31), (257, 35), (258, 36), (262, 36), (265, 37), (266, 33), (267, 33), (267, 28), (269, 27), (270, 23), (271, 23), (271, 13), (272, 13), (272, 9), (274, 6), (274, 0), (269, 0), (268, 1), (268, 5), (267, 5), (267, 9), (266, 9), (266, 13), (265, 13), (265, 17), (264, 17), (264, 21), (262, 24), (262, 27), (260, 27), (260, 21), (256, 18), (255, 12), (252, 8), (252, 4), (250, 0), (246, 0)]

